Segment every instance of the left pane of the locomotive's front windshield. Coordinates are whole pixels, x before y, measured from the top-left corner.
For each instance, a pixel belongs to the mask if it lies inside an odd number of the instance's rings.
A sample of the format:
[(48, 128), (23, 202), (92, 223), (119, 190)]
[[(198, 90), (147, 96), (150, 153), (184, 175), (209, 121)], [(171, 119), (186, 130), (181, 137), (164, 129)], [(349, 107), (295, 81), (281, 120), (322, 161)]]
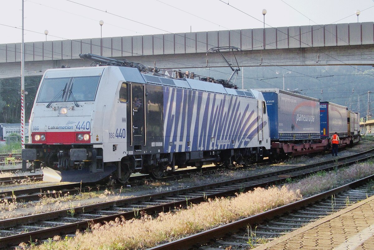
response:
[(64, 101), (63, 91), (70, 77), (44, 79), (42, 89), (39, 93), (38, 102), (50, 102), (56, 98), (56, 102)]

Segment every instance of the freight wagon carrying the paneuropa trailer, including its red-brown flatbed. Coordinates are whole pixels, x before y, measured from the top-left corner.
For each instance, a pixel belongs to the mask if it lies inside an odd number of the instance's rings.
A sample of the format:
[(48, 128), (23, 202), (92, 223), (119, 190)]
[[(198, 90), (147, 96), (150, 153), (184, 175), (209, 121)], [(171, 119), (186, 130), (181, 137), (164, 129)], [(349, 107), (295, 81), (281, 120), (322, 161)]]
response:
[(280, 89), (258, 89), (264, 96), (270, 121), (273, 158), (320, 152), (328, 141), (320, 140), (319, 99)]

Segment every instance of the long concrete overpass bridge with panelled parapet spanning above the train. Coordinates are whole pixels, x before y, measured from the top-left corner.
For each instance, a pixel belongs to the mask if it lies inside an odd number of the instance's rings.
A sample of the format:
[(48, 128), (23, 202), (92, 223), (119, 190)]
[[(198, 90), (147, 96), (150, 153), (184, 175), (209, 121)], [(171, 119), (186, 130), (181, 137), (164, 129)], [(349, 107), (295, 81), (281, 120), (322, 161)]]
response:
[[(25, 76), (49, 68), (89, 66), (79, 53), (93, 53), (158, 68), (227, 67), (211, 47), (235, 46), (240, 67), (374, 65), (373, 22), (25, 43)], [(231, 52), (227, 59), (234, 64)], [(0, 78), (21, 72), (21, 43), (0, 44)]]

